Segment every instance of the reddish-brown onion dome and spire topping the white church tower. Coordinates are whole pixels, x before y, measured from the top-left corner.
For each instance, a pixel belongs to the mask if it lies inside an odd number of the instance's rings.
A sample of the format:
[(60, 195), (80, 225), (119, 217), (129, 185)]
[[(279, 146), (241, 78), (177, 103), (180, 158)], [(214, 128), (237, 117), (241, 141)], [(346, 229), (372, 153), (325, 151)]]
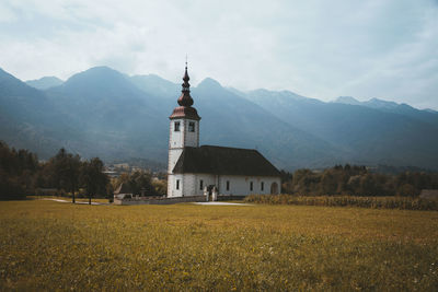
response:
[(187, 73), (187, 62), (185, 63), (185, 73), (183, 77), (184, 83), (182, 84), (183, 89), (181, 91), (181, 96), (177, 100), (178, 107), (173, 109), (172, 115), (170, 116), (170, 119), (174, 118), (188, 118), (188, 119), (196, 119), (199, 120), (200, 117), (198, 116), (198, 113), (196, 108), (192, 107), (193, 105), (193, 98), (191, 96), (191, 84), (188, 81), (191, 78), (188, 77)]

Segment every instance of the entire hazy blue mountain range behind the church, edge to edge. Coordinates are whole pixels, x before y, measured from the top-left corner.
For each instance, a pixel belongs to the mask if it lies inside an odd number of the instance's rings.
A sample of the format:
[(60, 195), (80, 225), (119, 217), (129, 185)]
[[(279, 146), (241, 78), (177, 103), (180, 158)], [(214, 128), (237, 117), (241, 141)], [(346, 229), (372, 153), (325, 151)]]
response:
[[(39, 157), (64, 147), (84, 157), (165, 165), (169, 116), (181, 85), (95, 67), (62, 82), (22, 82), (0, 69), (0, 140)], [(205, 79), (192, 87), (200, 143), (257, 149), (285, 170), (334, 164), (438, 168), (438, 113), (381, 100), (334, 102), (289, 91), (242, 92)]]

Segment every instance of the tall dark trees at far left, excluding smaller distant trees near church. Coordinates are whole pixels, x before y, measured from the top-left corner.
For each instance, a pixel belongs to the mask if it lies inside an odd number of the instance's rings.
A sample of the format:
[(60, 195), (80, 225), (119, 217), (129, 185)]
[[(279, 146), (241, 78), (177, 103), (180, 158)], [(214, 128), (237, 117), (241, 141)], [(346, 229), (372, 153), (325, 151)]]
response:
[(47, 162), (38, 162), (35, 153), (0, 141), (0, 199), (22, 199), (56, 189), (57, 195), (70, 192), (76, 202), (76, 194), (82, 189), (91, 203), (96, 195), (108, 194), (110, 179), (103, 171), (99, 157), (83, 160), (62, 148)]

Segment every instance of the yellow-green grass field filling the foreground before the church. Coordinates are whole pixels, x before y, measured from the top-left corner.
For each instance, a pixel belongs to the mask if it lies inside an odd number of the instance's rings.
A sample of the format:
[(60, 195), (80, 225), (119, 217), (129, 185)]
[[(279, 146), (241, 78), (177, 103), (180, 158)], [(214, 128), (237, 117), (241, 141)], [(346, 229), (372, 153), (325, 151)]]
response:
[(0, 289), (438, 291), (438, 212), (0, 202)]

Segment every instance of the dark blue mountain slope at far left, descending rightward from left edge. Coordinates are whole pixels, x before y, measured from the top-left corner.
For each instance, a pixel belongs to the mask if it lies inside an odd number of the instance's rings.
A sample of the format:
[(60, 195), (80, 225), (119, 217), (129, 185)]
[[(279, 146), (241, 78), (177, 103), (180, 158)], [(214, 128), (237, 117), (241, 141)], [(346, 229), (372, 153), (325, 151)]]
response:
[[(0, 139), (16, 148), (28, 148), (42, 157), (54, 154), (70, 132), (80, 133), (55, 110), (45, 94), (0, 69)], [(56, 120), (56, 122), (54, 122)]]

